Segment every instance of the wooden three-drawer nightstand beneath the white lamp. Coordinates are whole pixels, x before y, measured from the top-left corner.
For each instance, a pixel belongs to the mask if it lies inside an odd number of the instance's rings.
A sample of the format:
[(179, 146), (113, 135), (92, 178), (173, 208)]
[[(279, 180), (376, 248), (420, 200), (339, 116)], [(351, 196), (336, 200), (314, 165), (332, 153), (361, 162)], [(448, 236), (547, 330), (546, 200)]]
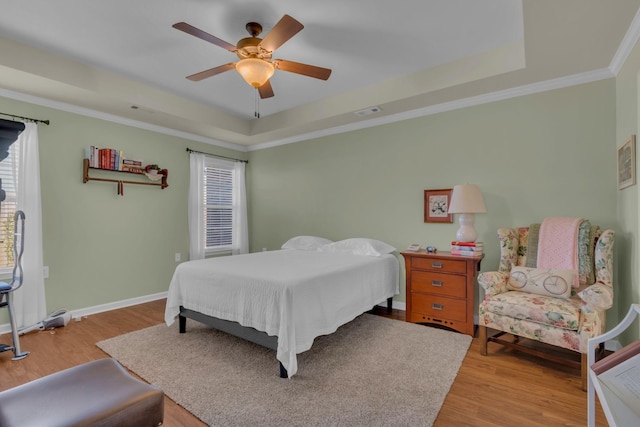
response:
[(474, 335), (473, 309), (481, 257), (402, 252), (407, 272), (407, 322), (446, 326)]

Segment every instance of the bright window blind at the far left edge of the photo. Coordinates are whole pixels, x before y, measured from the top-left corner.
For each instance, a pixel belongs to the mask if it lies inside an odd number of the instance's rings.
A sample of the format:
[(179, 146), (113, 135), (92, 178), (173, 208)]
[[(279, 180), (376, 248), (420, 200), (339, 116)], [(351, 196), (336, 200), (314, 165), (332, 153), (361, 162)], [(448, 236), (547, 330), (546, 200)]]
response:
[(17, 178), (19, 145), (12, 144), (9, 155), (0, 161), (0, 179), (5, 200), (0, 204), (0, 274), (13, 268), (13, 215), (17, 203)]

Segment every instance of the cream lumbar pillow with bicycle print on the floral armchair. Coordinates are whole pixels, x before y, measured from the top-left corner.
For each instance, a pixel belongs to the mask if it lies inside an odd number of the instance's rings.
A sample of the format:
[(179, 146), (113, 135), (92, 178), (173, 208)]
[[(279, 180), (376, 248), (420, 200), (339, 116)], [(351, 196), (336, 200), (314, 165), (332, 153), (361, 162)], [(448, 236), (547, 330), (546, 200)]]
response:
[(569, 299), (571, 287), (578, 282), (578, 270), (513, 267), (507, 288), (514, 291)]

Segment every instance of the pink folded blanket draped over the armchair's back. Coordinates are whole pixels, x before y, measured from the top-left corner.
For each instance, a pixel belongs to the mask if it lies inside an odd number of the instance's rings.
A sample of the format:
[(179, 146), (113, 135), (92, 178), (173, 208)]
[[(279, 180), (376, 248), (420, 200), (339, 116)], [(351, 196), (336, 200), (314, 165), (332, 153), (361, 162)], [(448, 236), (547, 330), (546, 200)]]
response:
[(578, 270), (578, 232), (582, 218), (546, 218), (540, 224), (538, 268)]

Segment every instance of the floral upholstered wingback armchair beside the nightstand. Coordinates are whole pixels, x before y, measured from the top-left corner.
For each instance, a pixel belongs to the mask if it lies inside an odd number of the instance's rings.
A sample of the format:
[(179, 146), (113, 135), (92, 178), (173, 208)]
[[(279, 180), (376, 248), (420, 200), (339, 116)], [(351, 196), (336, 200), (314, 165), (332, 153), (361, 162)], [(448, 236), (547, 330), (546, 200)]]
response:
[[(498, 271), (478, 276), (484, 289), (484, 299), (478, 308), (480, 351), (486, 356), (487, 343), (492, 341), (569, 366), (580, 366), (582, 388), (586, 390), (587, 341), (605, 332), (606, 310), (613, 305), (615, 232), (582, 220), (577, 233), (579, 269), (573, 270), (577, 277), (571, 278), (567, 276), (571, 274), (569, 270), (537, 268), (539, 227), (540, 224), (532, 224), (498, 230), (501, 252)], [(568, 283), (571, 286), (566, 286)], [(488, 336), (488, 328), (498, 333)], [(501, 338), (504, 334), (511, 334), (514, 339)], [(519, 337), (580, 353), (580, 362), (521, 346)]]

